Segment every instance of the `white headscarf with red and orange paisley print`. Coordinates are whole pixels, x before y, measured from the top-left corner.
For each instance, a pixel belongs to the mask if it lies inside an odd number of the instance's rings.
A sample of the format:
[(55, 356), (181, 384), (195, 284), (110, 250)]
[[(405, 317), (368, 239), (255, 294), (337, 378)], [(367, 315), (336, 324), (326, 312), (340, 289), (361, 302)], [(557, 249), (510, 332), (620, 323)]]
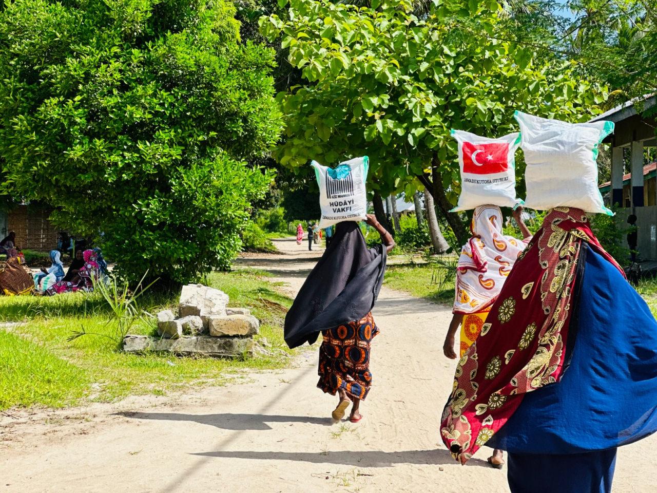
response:
[(489, 308), (502, 289), (513, 264), (531, 238), (505, 236), (498, 206), (478, 206), (472, 214), (472, 238), (461, 248), (457, 264), (455, 314)]

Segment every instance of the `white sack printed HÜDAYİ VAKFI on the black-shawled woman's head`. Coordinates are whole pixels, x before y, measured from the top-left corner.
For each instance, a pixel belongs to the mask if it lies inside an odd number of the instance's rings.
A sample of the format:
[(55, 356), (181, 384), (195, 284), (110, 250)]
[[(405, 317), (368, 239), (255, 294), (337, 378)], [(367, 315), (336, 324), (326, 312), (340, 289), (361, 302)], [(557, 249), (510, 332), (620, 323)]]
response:
[(313, 161), (312, 166), (319, 185), (319, 206), (322, 211), (319, 227), (367, 219), (367, 156), (342, 162), (334, 169), (317, 161)]

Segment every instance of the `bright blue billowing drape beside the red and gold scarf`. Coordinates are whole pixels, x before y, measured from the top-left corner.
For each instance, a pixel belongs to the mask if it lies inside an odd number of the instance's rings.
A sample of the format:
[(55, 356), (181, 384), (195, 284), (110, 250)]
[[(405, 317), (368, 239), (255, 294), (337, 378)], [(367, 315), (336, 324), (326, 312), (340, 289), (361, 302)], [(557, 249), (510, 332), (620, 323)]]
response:
[(528, 392), (489, 446), (578, 454), (657, 430), (657, 322), (620, 272), (588, 245), (585, 250), (566, 341), (570, 365), (558, 383)]

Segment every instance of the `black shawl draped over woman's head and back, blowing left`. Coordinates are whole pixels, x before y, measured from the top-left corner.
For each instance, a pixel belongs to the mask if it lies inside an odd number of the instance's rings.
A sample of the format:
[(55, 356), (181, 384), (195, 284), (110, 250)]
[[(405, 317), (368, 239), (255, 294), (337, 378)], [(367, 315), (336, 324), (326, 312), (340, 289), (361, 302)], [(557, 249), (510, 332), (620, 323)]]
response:
[(290, 348), (313, 344), (319, 332), (367, 315), (385, 271), (386, 247), (367, 248), (357, 223), (338, 223), (285, 317), (285, 342)]

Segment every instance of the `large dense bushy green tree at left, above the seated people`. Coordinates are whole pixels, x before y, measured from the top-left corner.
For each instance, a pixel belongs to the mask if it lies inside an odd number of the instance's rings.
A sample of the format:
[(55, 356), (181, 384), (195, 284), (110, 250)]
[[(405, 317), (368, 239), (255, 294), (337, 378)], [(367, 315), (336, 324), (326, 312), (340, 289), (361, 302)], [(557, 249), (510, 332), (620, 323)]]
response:
[(273, 51), (217, 0), (16, 0), (0, 14), (1, 192), (55, 207), (120, 271), (229, 267), (281, 131)]

